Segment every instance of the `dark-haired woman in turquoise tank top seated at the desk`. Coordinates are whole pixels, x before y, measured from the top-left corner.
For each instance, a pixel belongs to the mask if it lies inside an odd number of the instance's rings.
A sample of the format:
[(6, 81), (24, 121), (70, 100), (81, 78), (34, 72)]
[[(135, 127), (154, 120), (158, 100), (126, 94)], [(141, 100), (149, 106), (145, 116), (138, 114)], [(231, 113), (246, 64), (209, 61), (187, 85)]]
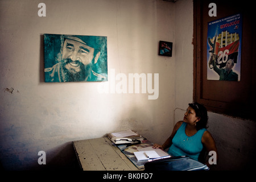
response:
[[(205, 148), (207, 154), (210, 151), (215, 151), (217, 158), (216, 144), (212, 135), (206, 129), (208, 122), (207, 109), (198, 103), (188, 105), (183, 121), (176, 123), (171, 136), (163, 145), (154, 144), (153, 147), (162, 150), (170, 147), (168, 154), (171, 156), (185, 155), (195, 160), (199, 160), (199, 155)], [(206, 164), (208, 167), (210, 166), (209, 162)]]

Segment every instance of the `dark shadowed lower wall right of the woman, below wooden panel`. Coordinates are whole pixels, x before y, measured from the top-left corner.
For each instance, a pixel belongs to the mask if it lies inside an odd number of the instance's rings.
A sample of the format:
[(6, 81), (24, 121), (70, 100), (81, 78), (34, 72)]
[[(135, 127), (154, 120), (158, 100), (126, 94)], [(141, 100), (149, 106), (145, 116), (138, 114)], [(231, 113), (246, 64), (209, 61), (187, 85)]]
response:
[(219, 156), (216, 170), (255, 169), (256, 146), (252, 140), (256, 137), (255, 121), (211, 112), (208, 115), (208, 130), (216, 142)]

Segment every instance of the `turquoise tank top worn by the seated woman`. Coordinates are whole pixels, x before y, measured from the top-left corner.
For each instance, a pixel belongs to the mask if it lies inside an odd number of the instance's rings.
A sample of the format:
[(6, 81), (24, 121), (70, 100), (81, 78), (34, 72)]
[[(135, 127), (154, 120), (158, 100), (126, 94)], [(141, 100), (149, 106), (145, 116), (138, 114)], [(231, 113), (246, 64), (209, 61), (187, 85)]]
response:
[(189, 158), (198, 160), (200, 152), (203, 150), (202, 137), (206, 129), (198, 130), (197, 133), (191, 137), (185, 134), (187, 123), (183, 122), (177, 130), (172, 145), (168, 150), (171, 156), (185, 155)]

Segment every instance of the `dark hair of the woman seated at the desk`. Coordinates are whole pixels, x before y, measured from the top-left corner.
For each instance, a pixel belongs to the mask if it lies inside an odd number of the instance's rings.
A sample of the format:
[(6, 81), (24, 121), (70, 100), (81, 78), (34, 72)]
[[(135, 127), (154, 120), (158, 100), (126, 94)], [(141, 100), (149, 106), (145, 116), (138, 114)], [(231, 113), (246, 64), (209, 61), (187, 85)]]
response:
[(196, 130), (207, 129), (208, 114), (205, 106), (198, 104), (197, 102), (188, 105), (195, 110), (196, 116), (200, 118), (200, 121), (196, 123)]

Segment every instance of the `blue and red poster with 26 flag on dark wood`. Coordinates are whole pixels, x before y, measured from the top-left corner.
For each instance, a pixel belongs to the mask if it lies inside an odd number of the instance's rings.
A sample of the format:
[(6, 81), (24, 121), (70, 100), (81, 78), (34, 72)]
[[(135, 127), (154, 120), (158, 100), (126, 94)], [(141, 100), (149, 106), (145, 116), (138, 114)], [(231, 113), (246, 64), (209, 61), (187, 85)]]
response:
[(208, 23), (207, 80), (240, 81), (242, 15)]

